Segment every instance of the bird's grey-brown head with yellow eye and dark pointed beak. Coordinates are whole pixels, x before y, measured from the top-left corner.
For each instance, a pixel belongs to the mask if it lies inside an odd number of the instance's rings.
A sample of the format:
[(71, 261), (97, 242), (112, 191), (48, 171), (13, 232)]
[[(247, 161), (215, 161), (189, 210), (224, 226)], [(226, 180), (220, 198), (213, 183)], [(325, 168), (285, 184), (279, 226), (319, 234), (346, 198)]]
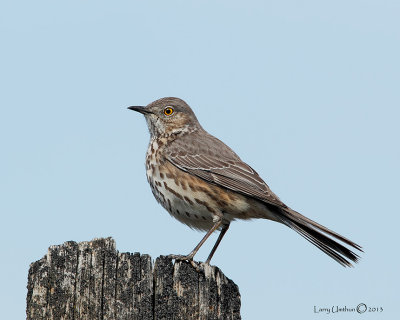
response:
[(161, 98), (145, 107), (132, 106), (128, 109), (144, 115), (151, 136), (177, 134), (201, 128), (193, 110), (179, 98)]

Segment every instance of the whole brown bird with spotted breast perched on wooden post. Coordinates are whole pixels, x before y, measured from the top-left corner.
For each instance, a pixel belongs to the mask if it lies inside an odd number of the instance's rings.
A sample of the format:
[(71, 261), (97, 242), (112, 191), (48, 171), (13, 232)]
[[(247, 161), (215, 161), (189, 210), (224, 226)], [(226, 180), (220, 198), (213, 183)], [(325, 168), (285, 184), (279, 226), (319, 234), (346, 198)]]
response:
[(200, 125), (182, 99), (165, 97), (128, 109), (144, 115), (150, 132), (146, 176), (156, 200), (178, 221), (206, 231), (187, 255), (169, 255), (190, 263), (219, 230), (206, 264), (210, 264), (230, 223), (268, 219), (296, 231), (344, 267), (352, 267), (362, 247), (283, 203), (259, 174), (225, 143)]

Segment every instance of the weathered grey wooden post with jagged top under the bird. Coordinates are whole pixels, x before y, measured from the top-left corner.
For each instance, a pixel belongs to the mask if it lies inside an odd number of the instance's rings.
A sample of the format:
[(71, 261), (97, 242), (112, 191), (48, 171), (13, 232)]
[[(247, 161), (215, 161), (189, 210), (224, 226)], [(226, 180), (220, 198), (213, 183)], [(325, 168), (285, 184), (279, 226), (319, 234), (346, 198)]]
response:
[(52, 246), (31, 264), (28, 320), (240, 319), (239, 288), (216, 267), (196, 271), (112, 238)]

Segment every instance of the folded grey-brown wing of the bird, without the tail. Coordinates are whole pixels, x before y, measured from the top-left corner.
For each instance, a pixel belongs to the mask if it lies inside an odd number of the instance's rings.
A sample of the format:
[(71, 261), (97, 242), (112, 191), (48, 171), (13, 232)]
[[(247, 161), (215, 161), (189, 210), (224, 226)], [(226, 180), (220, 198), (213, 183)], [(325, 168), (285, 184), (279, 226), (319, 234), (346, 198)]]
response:
[(287, 208), (255, 170), (222, 141), (205, 131), (181, 136), (166, 151), (167, 160), (183, 171), (229, 190)]

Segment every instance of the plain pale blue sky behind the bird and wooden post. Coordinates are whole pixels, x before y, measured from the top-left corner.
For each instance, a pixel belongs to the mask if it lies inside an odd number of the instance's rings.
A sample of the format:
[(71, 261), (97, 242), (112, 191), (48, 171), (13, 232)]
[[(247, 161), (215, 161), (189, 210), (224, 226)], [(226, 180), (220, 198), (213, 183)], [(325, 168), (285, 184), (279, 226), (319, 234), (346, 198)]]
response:
[[(213, 264), (243, 319), (398, 317), (398, 1), (2, 1), (0, 317), (25, 317), (29, 264), (112, 236), (188, 253), (153, 199), (144, 119), (185, 99), (289, 206), (361, 244), (344, 269), (288, 228), (236, 222)], [(196, 256), (204, 260), (217, 235)], [(315, 314), (316, 307), (383, 307)]]

